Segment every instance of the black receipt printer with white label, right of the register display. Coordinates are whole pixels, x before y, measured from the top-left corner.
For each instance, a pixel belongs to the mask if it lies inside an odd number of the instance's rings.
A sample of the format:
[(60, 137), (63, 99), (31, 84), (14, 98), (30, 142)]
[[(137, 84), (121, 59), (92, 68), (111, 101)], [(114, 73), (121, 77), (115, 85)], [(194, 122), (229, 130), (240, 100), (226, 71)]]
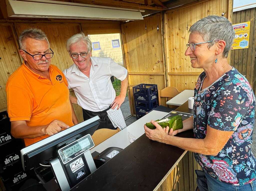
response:
[(94, 163), (96, 165), (96, 168), (98, 169), (101, 165), (112, 159), (114, 156), (116, 156), (121, 150), (121, 148), (118, 147), (109, 147), (102, 151), (99, 155), (95, 156), (93, 158)]

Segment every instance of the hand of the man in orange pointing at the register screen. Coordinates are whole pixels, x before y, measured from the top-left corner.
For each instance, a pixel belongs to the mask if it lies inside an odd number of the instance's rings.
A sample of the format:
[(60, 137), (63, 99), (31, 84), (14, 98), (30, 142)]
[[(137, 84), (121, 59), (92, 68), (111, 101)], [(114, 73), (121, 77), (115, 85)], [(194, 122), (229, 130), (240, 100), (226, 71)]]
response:
[(42, 128), (42, 133), (51, 136), (67, 128), (69, 128), (69, 126), (66, 123), (55, 119), (50, 122), (46, 128)]

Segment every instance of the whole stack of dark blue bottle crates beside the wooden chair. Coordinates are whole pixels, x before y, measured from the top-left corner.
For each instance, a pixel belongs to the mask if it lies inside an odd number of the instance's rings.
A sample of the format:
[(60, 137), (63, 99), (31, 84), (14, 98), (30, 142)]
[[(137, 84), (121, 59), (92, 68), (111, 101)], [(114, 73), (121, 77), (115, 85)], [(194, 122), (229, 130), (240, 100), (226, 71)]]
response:
[(159, 105), (156, 84), (139, 84), (134, 86), (133, 97), (137, 119)]

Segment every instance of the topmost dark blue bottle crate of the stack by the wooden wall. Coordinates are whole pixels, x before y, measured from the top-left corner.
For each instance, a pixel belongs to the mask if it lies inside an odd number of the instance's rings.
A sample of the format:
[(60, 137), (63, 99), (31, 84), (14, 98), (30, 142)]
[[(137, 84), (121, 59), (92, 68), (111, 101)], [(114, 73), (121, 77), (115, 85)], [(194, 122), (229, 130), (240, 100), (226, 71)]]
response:
[(135, 101), (151, 102), (158, 98), (156, 84), (139, 84), (133, 87)]

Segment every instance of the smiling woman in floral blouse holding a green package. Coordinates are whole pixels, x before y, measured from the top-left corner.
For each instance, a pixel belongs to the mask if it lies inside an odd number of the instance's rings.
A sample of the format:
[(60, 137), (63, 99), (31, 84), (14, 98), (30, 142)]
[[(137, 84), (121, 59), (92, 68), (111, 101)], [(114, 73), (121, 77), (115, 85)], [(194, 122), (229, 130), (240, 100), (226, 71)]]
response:
[[(208, 16), (191, 26), (188, 48), (193, 68), (203, 68), (195, 87), (194, 116), (183, 129), (168, 134), (156, 122), (146, 126), (152, 140), (195, 152), (210, 191), (256, 190), (256, 160), (251, 152), (255, 96), (247, 79), (229, 65), (234, 39), (232, 24), (224, 17)], [(193, 138), (176, 137), (194, 130)]]

